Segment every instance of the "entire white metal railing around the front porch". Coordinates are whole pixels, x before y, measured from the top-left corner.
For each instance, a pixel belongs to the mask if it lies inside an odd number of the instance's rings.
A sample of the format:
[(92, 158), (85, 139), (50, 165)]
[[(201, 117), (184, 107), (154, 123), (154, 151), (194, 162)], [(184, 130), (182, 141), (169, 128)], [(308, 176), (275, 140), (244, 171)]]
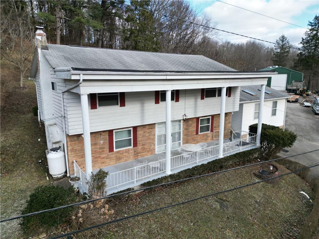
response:
[[(233, 133), (233, 141), (225, 142), (223, 144), (223, 155), (233, 151), (241, 151), (243, 148), (247, 148), (256, 144), (256, 134), (252, 134), (245, 131), (238, 131)], [(209, 146), (207, 148), (202, 148), (198, 151), (186, 152), (177, 156), (171, 157), (171, 169), (178, 167), (185, 167), (189, 164), (198, 164), (200, 161), (216, 157), (219, 155), (219, 145)], [(75, 176), (80, 178), (81, 184), (87, 189), (86, 175), (78, 166), (78, 164), (73, 161)], [(158, 161), (139, 164), (136, 167), (125, 169), (122, 171), (110, 173), (107, 177), (107, 189), (119, 187), (120, 185), (134, 182), (137, 180), (149, 177), (152, 178), (153, 175), (162, 173), (166, 171), (166, 159), (165, 157), (160, 157)]]

